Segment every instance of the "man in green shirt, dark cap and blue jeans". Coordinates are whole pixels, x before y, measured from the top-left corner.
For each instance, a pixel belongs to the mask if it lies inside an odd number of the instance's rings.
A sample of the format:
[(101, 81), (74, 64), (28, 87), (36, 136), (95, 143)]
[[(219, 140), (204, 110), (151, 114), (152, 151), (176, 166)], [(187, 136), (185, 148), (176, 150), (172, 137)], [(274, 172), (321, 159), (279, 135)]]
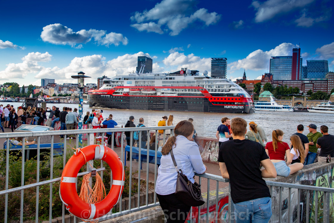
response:
[(307, 126), (309, 128), (309, 133), (306, 135), (309, 139), (309, 152), (305, 157), (304, 165), (312, 164), (317, 156), (318, 148), (316, 146), (318, 138), (322, 137), (320, 132), (317, 132), (317, 126), (315, 124), (310, 124)]

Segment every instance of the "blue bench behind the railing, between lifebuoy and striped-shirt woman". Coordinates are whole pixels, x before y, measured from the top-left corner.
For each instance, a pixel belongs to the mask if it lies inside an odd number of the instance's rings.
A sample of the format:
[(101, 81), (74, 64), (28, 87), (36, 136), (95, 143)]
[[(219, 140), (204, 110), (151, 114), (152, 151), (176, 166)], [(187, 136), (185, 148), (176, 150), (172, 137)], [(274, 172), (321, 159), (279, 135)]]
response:
[[(130, 146), (125, 146), (125, 156), (124, 156), (124, 165), (126, 165), (126, 158), (127, 158), (127, 153), (130, 153)], [(147, 149), (140, 149), (140, 169), (142, 169), (142, 161), (147, 162)], [(160, 165), (160, 159), (161, 159), (162, 153), (157, 151), (157, 165)], [(132, 146), (132, 158), (133, 159), (139, 159), (139, 148)], [(149, 158), (148, 158), (149, 163), (155, 163), (155, 150), (149, 149)]]

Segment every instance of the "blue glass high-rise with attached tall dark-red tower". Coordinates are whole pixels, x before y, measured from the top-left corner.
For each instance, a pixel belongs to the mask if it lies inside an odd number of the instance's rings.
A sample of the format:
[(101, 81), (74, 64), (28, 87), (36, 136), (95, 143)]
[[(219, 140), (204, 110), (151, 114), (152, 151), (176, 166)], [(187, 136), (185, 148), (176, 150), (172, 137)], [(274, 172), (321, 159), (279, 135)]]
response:
[(303, 59), (300, 48), (292, 49), (292, 56), (275, 56), (270, 59), (270, 71), (276, 80), (301, 80)]

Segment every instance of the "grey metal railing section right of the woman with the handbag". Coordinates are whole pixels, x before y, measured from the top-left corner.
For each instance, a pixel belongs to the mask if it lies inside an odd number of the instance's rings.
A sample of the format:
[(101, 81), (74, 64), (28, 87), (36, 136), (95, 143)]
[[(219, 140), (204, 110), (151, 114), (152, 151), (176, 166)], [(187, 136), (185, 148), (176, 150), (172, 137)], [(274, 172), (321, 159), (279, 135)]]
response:
[[(219, 182), (227, 183), (229, 182), (228, 179), (225, 179), (221, 176), (216, 176), (212, 174), (196, 174), (195, 176), (199, 177), (199, 184), (201, 184), (202, 178), (207, 179), (207, 197), (206, 197), (206, 216), (201, 218), (201, 211), (200, 207), (198, 207), (198, 215), (196, 216), (196, 221), (195, 222), (213, 222), (212, 218), (210, 219), (209, 216), (214, 216), (214, 222), (217, 223), (218, 221), (222, 219), (218, 219), (219, 217), (219, 212), (218, 210), (218, 203), (219, 203)], [(210, 190), (210, 180), (213, 180), (216, 182), (216, 188), (215, 188), (215, 210), (214, 214), (209, 215), (209, 204), (210, 204), (210, 195), (209, 192), (212, 192)], [(319, 219), (323, 222), (329, 223), (333, 222), (334, 220), (334, 188), (326, 188), (326, 187), (316, 187), (316, 186), (309, 186), (309, 185), (300, 185), (300, 184), (291, 184), (291, 183), (282, 183), (282, 182), (275, 182), (275, 181), (266, 181), (267, 186), (269, 187), (270, 194), (272, 196), (272, 201), (276, 202), (276, 204), (272, 204), (272, 218), (270, 219), (270, 222), (321, 222)], [(274, 189), (278, 191), (278, 193), (274, 193)], [(234, 222), (235, 216), (234, 215), (234, 207), (232, 204), (232, 199), (231, 199), (231, 194), (230, 194), (231, 188), (230, 184), (228, 185), (228, 212), (227, 212), (227, 222)], [(287, 214), (282, 214), (282, 194), (287, 191)], [(294, 199), (292, 201), (292, 195), (297, 192), (297, 199)], [(203, 191), (202, 191), (203, 193)], [(310, 194), (313, 194), (313, 198), (311, 197), (310, 200)], [(303, 199), (304, 201), (301, 200), (301, 195), (304, 197), (306, 196), (306, 199)], [(211, 197), (212, 198), (212, 197)], [(275, 199), (274, 199), (275, 198)], [(278, 201), (278, 202), (277, 202)], [(311, 202), (312, 205), (311, 205)], [(319, 202), (320, 205), (322, 206), (319, 207)], [(212, 202), (211, 202), (212, 203)], [(297, 215), (296, 218), (293, 219), (293, 211), (292, 207), (295, 204), (297, 206)], [(313, 206), (314, 204), (314, 206)], [(301, 205), (302, 207), (305, 207), (305, 216), (301, 215), (303, 213), (304, 208), (301, 210)], [(322, 216), (319, 213), (319, 209), (322, 211)], [(314, 213), (314, 215), (311, 215)], [(190, 209), (190, 219), (189, 222), (194, 222), (194, 219), (192, 218), (192, 208)], [(277, 217), (278, 219), (275, 219), (273, 221), (273, 217)], [(301, 218), (302, 216), (302, 218)], [(318, 219), (319, 218), (319, 219)]]

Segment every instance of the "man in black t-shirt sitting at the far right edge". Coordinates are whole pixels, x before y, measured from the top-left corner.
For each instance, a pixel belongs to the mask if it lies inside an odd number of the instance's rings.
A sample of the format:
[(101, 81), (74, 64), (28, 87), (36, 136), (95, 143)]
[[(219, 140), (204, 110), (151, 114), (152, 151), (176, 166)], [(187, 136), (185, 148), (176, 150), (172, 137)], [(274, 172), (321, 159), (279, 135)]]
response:
[(334, 157), (334, 135), (328, 134), (328, 127), (326, 125), (320, 126), (322, 137), (317, 140), (317, 148), (321, 148), (318, 157), (318, 162), (325, 161), (327, 156)]

